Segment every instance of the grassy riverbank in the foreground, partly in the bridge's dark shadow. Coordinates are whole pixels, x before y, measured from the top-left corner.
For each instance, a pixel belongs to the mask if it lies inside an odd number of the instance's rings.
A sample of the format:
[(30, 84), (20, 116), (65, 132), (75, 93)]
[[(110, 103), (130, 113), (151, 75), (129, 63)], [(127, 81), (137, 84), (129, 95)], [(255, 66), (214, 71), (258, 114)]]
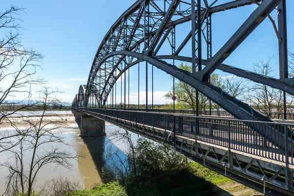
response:
[(263, 196), (197, 163), (190, 163), (186, 170), (176, 174), (139, 181), (130, 176), (124, 186), (114, 181), (66, 196)]

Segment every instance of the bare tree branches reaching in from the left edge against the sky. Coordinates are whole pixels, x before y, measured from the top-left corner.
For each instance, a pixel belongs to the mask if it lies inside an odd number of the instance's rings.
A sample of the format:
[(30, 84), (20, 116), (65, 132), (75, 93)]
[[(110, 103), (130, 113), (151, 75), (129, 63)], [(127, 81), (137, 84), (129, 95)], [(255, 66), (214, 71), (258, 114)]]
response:
[(20, 140), (14, 140), (13, 137), (25, 135), (11, 117), (36, 104), (24, 104), (30, 95), (28, 86), (45, 82), (35, 76), (37, 69), (42, 69), (44, 56), (34, 49), (25, 48), (21, 42), (21, 20), (17, 16), (22, 12), (24, 8), (11, 6), (0, 13), (0, 34), (3, 35), (0, 38), (0, 125), (8, 122), (17, 130), (14, 135), (8, 131), (0, 134), (0, 152), (19, 144)]

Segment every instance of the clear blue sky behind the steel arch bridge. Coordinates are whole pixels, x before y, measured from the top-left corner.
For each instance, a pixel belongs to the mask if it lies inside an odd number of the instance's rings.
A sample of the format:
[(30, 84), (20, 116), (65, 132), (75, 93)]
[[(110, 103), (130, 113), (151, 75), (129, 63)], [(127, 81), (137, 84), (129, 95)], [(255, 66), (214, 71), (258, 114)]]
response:
[[(219, 0), (219, 3), (227, 0)], [(135, 2), (135, 0), (9, 0), (1, 2), (0, 12), (10, 5), (25, 7), (25, 14), (20, 18), (24, 21), (21, 25), (23, 43), (27, 47), (33, 47), (43, 53), (44, 71), (39, 75), (49, 80), (51, 86), (58, 86), (64, 90), (63, 99), (71, 102), (78, 92), (80, 84), (86, 84), (91, 64), (95, 53), (104, 35), (111, 25), (122, 13)], [(213, 54), (230, 38), (230, 36), (242, 25), (245, 19), (256, 8), (256, 5), (240, 7), (216, 13), (212, 17)], [(288, 18), (288, 47), (294, 51), (294, 1), (287, 0)], [(272, 13), (275, 18), (276, 11)], [(191, 23), (177, 28), (176, 45), (186, 36)], [(191, 46), (187, 45), (180, 55), (191, 56)], [(163, 52), (163, 51), (161, 51)], [(161, 53), (159, 52), (159, 54)], [(255, 31), (236, 49), (224, 62), (235, 67), (252, 70), (252, 63), (273, 56), (271, 65), (278, 77), (278, 41), (269, 19), (255, 29)], [(179, 63), (179, 62), (176, 62)], [(142, 68), (145, 64), (141, 63)], [(131, 103), (137, 102), (137, 66), (130, 70)], [(149, 71), (151, 67), (149, 65)], [(226, 75), (225, 73), (221, 75)], [(151, 73), (149, 72), (150, 79)], [(145, 103), (145, 70), (140, 76), (140, 102)], [(120, 83), (117, 84), (120, 89)], [(148, 83), (148, 91), (151, 91), (151, 83)], [(169, 75), (154, 68), (154, 103), (165, 103), (163, 95), (171, 90), (172, 80)], [(37, 87), (33, 86), (35, 92)], [(117, 93), (120, 95), (120, 91)], [(151, 101), (151, 95), (149, 100)], [(117, 98), (118, 100), (120, 97)], [(144, 102), (143, 102), (144, 101)], [(120, 101), (117, 101), (120, 102)]]

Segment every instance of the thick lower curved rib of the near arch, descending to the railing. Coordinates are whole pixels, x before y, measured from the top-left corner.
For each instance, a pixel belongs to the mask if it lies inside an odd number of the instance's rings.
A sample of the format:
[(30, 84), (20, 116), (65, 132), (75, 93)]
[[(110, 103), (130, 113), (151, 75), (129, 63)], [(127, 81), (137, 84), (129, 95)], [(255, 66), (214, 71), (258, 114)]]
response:
[[(177, 79), (186, 82), (187, 84), (194, 87), (196, 90), (201, 92), (207, 98), (211, 99), (212, 101), (216, 102), (220, 105), (223, 109), (227, 110), (231, 113), (234, 117), (240, 120), (251, 120), (251, 121), (268, 121), (273, 122), (270, 118), (262, 115), (258, 111), (254, 110), (248, 104), (243, 103), (242, 101), (233, 98), (232, 96), (228, 95), (227, 93), (221, 91), (220, 88), (213, 86), (208, 82), (199, 82), (194, 77), (190, 76), (190, 73), (187, 74), (186, 71), (175, 68), (175, 66), (168, 64), (167, 62), (161, 61), (156, 59), (155, 57), (150, 57), (145, 54), (131, 52), (131, 51), (115, 51), (112, 53), (107, 54), (101, 62), (104, 62), (108, 58), (111, 58), (115, 55), (127, 55), (131, 57), (137, 58), (137, 62), (146, 61), (151, 65), (157, 67), (158, 69), (171, 74), (172, 76), (176, 77)], [(133, 66), (132, 64), (131, 66)], [(129, 67), (131, 67), (129, 66)], [(128, 68), (129, 68), (128, 67)], [(122, 70), (122, 73), (125, 72), (127, 69)], [(122, 74), (121, 73), (121, 74)], [(119, 77), (117, 77), (119, 78)], [(221, 92), (220, 92), (221, 91)], [(110, 92), (110, 91), (109, 91)], [(109, 94), (108, 92), (108, 94)], [(227, 99), (230, 99), (228, 101)]]

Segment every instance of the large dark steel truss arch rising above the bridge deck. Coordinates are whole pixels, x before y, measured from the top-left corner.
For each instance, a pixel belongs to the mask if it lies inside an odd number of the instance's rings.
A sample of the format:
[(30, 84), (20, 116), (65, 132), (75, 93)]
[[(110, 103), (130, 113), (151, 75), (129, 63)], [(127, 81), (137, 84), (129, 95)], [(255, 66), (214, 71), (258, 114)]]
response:
[[(170, 0), (169, 3), (166, 3), (165, 0), (164, 6), (162, 3), (159, 3), (160, 1), (137, 0), (123, 13), (115, 24), (112, 25), (105, 35), (93, 60), (87, 85), (81, 85), (79, 88), (77, 98), (78, 105), (87, 107), (89, 98), (91, 95), (95, 95), (98, 107), (105, 106), (107, 97), (117, 79), (132, 65), (145, 61), (187, 82), (195, 87), (197, 91), (219, 104), (238, 119), (271, 122), (268, 117), (255, 111), (248, 104), (231, 97), (220, 88), (208, 83), (207, 76), (215, 69), (220, 69), (224, 72), (245, 77), (254, 82), (266, 84), (294, 95), (293, 78), (282, 78), (282, 80), (278, 80), (221, 64), (222, 61), (224, 61), (254, 29), (263, 22), (263, 20), (270, 17), (269, 14), (273, 9), (283, 4), (281, 1), (282, 0), (267, 0), (261, 2), (260, 0), (234, 0), (224, 4), (214, 5), (216, 1), (209, 4), (209, 2), (205, 0), (205, 7), (198, 8), (198, 10), (193, 13), (193, 6), (191, 6), (191, 3), (189, 4), (189, 2), (184, 0)], [(227, 43), (212, 56), (211, 15), (253, 3), (258, 4), (257, 8)], [(200, 16), (199, 20), (198, 16)], [(194, 30), (192, 29), (180, 46), (175, 49), (175, 27), (191, 20), (200, 21), (200, 23), (197, 23), (200, 25), (195, 27)], [(178, 54), (189, 40), (195, 37), (192, 32), (195, 31), (195, 33), (198, 34), (199, 32), (197, 29), (201, 29), (201, 26), (204, 26), (203, 29), (206, 28), (207, 32), (210, 32), (207, 33), (205, 39), (207, 43), (208, 59), (199, 60), (197, 59), (196, 53), (196, 59), (193, 59), (193, 57), (179, 56)], [(279, 23), (279, 29), (283, 27), (284, 26), (280, 26)], [(200, 32), (202, 34), (204, 34), (203, 29), (201, 29)], [(278, 36), (279, 40), (281, 40), (281, 36), (282, 35)], [(157, 56), (157, 52), (160, 51), (167, 40), (173, 49), (172, 55)], [(200, 49), (201, 45), (198, 45), (198, 50)], [(203, 71), (187, 73), (158, 58), (185, 60), (187, 62), (192, 62), (193, 65), (201, 62), (198, 66), (206, 66)]]

